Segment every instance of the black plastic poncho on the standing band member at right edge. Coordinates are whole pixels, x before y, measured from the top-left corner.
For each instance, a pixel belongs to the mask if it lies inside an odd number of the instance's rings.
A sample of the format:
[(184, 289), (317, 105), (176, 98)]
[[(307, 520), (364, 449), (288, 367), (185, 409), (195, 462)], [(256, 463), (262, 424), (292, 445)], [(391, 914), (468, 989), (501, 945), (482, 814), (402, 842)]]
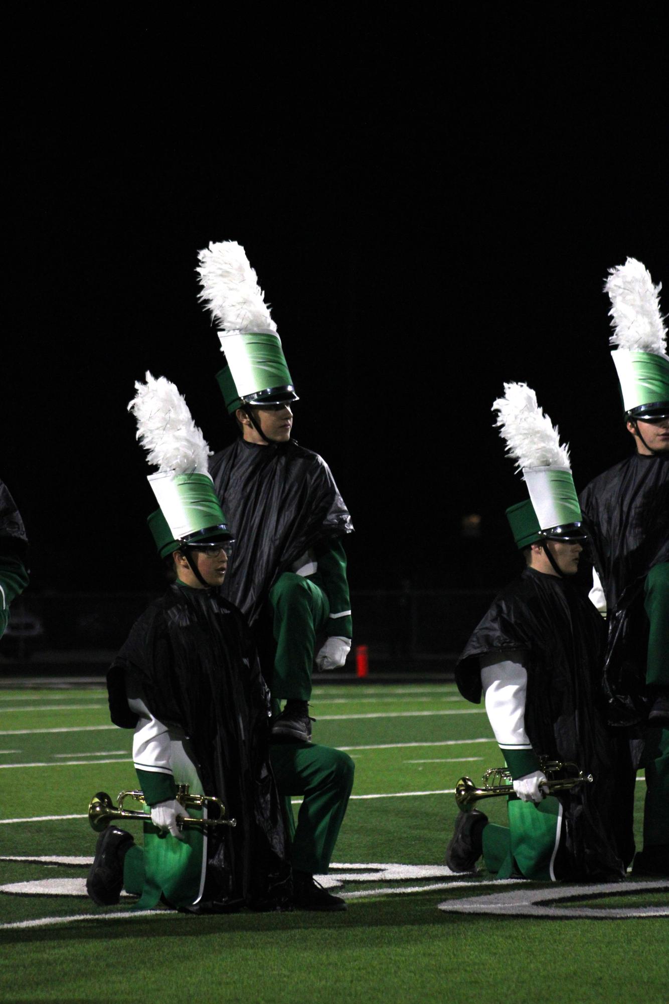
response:
[(591, 481), (579, 501), (607, 600), (609, 717), (632, 725), (650, 703), (643, 587), (648, 571), (669, 561), (669, 457), (635, 454)]

